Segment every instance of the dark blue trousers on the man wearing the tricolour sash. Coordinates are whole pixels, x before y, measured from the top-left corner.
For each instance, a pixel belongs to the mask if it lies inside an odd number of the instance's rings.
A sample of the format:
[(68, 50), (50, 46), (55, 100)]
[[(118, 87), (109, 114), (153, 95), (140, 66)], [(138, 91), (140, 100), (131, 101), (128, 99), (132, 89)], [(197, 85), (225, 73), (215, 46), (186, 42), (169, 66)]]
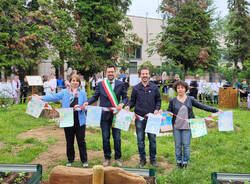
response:
[[(110, 128), (112, 127), (112, 121), (101, 121), (102, 129), (102, 146), (105, 159), (111, 159), (110, 148)], [(115, 159), (121, 158), (121, 136), (120, 129), (112, 128), (112, 136), (114, 140)]]

